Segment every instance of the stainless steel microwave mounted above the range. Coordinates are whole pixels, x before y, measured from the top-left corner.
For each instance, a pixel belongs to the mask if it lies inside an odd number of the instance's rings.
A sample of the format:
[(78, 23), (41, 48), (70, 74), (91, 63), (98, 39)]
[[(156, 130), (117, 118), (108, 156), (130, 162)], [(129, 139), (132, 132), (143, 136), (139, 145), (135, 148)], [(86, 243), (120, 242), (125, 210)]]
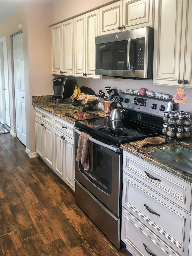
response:
[(140, 28), (95, 37), (95, 74), (153, 77), (154, 29)]

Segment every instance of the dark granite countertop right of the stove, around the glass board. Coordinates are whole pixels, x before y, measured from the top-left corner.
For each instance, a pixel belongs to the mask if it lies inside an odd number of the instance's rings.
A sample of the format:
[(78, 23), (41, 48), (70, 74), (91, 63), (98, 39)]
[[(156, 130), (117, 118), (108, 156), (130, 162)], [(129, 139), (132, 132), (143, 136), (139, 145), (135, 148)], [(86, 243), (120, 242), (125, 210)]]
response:
[(169, 173), (172, 173), (173, 175), (175, 175), (181, 179), (184, 179), (184, 180), (192, 183), (192, 175), (190, 173), (186, 173), (183, 170), (181, 170), (177, 167), (174, 167), (173, 165), (167, 164), (167, 163), (153, 157), (152, 155), (150, 155), (152, 152), (171, 148), (173, 146), (180, 146), (180, 147), (184, 147), (186, 149), (192, 150), (192, 141), (187, 142), (185, 140), (182, 140), (182, 141), (170, 140), (170, 139), (166, 138), (164, 135), (162, 135), (161, 137), (165, 138), (165, 140), (166, 140), (166, 142), (164, 144), (154, 145), (154, 146), (146, 145), (143, 147), (138, 147), (135, 145), (136, 141), (134, 141), (134, 142), (122, 144), (121, 148), (124, 149), (125, 151), (147, 161), (150, 164), (153, 164)]

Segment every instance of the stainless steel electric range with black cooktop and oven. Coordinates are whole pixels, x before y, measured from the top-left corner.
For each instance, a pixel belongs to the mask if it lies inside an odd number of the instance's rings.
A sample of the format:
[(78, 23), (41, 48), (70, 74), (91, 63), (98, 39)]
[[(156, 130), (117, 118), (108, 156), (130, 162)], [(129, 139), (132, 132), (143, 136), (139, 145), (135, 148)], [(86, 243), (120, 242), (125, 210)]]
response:
[(85, 132), (93, 145), (93, 170), (75, 162), (75, 200), (79, 207), (117, 247), (120, 243), (122, 206), (122, 149), (120, 145), (158, 136), (165, 110), (173, 101), (121, 93), (123, 121), (101, 117), (75, 122), (75, 159), (79, 135)]

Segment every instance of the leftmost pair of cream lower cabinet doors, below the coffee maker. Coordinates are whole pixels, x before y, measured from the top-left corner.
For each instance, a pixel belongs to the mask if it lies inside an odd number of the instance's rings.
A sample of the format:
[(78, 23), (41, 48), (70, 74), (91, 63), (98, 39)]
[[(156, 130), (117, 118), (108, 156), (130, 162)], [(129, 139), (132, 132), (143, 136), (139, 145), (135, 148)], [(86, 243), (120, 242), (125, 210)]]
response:
[(35, 117), (36, 152), (53, 167), (53, 127)]

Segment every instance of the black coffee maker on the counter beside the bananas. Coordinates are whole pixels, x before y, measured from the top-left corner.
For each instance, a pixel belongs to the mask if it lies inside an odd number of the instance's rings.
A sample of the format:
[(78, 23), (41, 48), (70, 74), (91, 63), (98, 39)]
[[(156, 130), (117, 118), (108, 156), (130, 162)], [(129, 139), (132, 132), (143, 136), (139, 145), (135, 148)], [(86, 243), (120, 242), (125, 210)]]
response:
[(73, 80), (68, 79), (66, 77), (57, 77), (53, 79), (53, 92), (49, 98), (49, 101), (54, 102), (56, 104), (74, 102), (70, 97), (73, 94), (75, 89), (75, 84)]

